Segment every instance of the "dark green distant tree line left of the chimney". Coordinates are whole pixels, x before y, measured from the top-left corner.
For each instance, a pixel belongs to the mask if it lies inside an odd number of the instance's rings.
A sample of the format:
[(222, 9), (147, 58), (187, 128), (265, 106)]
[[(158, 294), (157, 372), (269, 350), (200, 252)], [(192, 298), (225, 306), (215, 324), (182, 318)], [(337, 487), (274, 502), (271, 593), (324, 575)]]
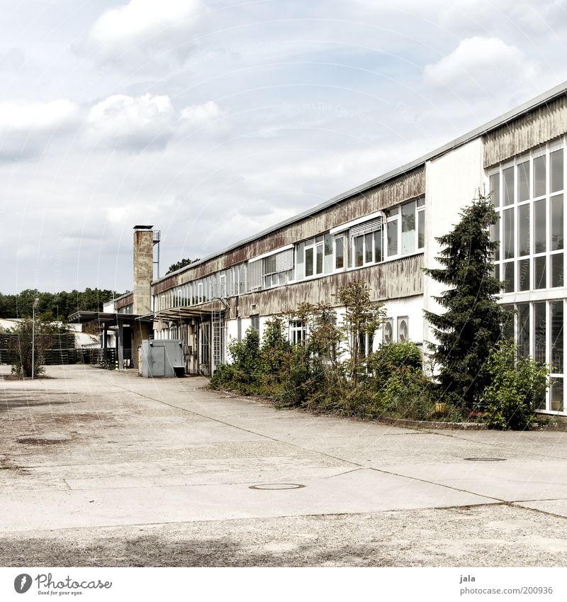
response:
[(36, 313), (54, 320), (67, 320), (75, 311), (102, 311), (103, 303), (121, 294), (108, 289), (88, 288), (69, 293), (42, 293), (37, 289), (26, 289), (17, 295), (0, 293), (0, 318), (29, 318), (32, 316), (33, 300), (39, 299)]

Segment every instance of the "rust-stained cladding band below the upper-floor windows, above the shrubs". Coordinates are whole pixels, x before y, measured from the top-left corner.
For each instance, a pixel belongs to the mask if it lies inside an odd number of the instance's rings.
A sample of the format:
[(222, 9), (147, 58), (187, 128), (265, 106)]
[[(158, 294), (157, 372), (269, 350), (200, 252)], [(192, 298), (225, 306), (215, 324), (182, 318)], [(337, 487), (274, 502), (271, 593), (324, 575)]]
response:
[[(412, 255), (391, 262), (371, 265), (360, 269), (340, 272), (318, 279), (277, 286), (267, 291), (258, 291), (230, 299), (230, 316), (238, 314), (240, 318), (249, 318), (250, 314), (271, 316), (293, 310), (300, 303), (338, 303), (332, 296), (340, 286), (349, 282), (364, 280), (370, 286), (373, 301), (400, 299), (423, 294), (423, 255)], [(252, 308), (255, 305), (256, 308)]]

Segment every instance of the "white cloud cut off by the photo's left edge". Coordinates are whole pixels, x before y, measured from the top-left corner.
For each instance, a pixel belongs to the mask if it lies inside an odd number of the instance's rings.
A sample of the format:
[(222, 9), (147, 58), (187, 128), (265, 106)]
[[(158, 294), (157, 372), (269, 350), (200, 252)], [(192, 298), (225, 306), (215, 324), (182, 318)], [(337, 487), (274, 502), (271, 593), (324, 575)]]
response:
[(78, 117), (79, 107), (65, 99), (0, 103), (0, 161), (38, 155)]

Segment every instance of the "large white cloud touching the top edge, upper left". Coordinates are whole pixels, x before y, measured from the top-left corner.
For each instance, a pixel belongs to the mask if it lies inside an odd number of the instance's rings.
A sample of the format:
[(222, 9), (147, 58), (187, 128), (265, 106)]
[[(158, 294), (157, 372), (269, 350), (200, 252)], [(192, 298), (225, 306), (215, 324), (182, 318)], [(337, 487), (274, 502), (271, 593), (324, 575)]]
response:
[(192, 28), (204, 11), (201, 0), (130, 0), (103, 13), (89, 31), (87, 46), (102, 60), (137, 57), (147, 47), (172, 48), (176, 34)]

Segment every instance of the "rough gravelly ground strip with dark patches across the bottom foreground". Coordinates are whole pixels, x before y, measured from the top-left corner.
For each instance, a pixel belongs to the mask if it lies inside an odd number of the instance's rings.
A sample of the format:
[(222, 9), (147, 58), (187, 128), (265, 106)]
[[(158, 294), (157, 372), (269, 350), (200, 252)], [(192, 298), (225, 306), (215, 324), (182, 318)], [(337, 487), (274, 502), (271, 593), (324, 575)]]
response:
[[(558, 567), (565, 520), (510, 506), (67, 529), (0, 537), (5, 567)], [(554, 552), (544, 552), (549, 542)], [(551, 546), (553, 547), (553, 546)]]

